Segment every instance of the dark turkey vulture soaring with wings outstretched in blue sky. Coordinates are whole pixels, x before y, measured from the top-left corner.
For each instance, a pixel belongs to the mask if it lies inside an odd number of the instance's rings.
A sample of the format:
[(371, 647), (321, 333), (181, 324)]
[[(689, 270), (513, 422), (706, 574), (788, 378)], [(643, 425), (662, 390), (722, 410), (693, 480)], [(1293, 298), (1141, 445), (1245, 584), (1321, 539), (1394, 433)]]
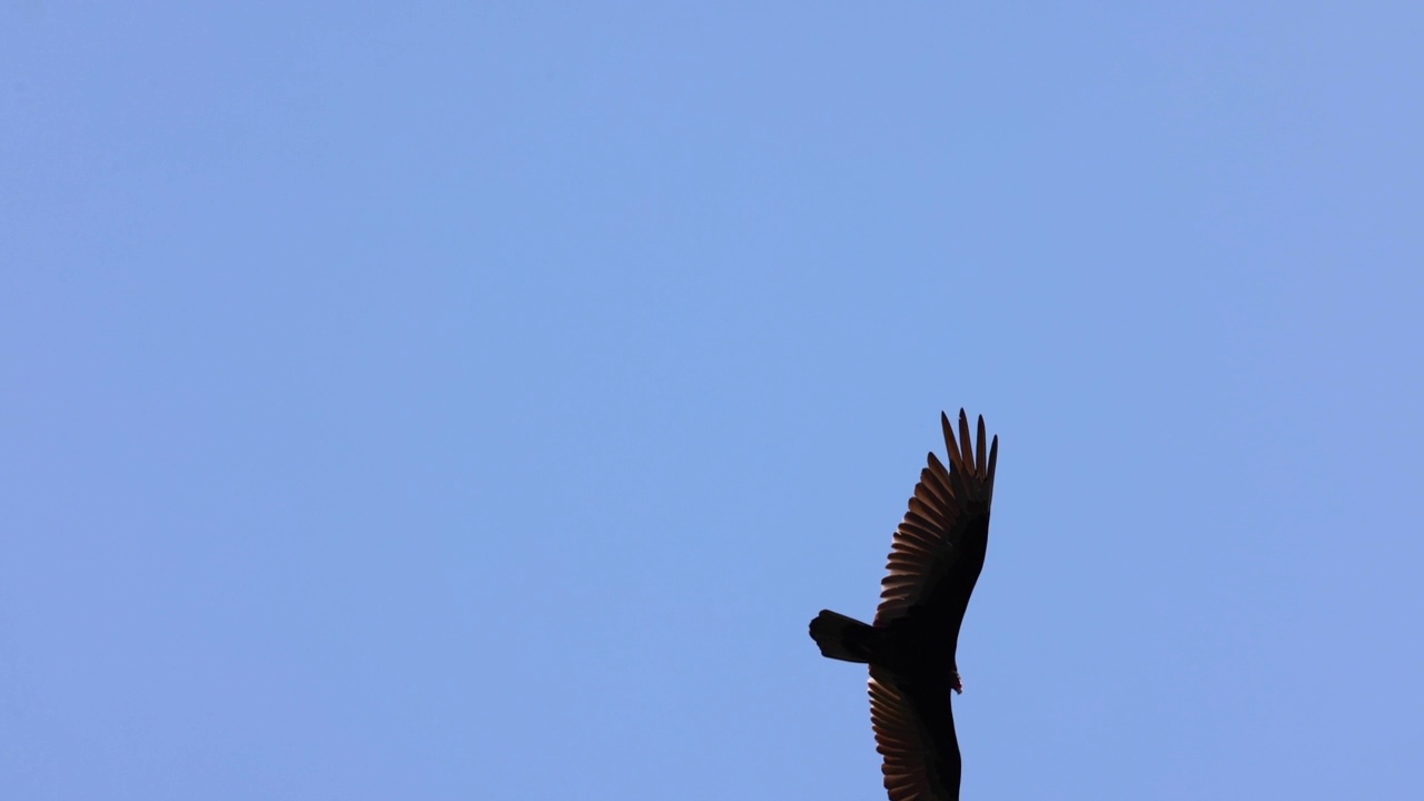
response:
[(980, 418), (978, 440), (971, 446), (963, 409), (958, 443), (944, 413), (940, 423), (950, 466), (930, 452), (930, 465), (920, 473), (910, 510), (890, 543), (874, 624), (830, 610), (810, 621), (822, 656), (870, 664), (870, 724), (876, 751), (884, 757), (890, 801), (960, 797), (960, 741), (950, 690), (963, 691), (954, 650), (984, 567), (998, 438), (985, 453)]

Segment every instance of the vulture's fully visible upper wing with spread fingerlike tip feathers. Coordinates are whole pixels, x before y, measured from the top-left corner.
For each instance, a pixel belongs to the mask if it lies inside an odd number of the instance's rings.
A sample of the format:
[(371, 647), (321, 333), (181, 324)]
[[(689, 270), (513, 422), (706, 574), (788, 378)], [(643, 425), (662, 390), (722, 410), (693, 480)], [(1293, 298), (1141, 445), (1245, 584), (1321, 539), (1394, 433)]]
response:
[[(958, 442), (950, 418), (944, 413), (940, 413), (940, 425), (944, 428), (950, 466), (946, 467), (930, 452), (930, 463), (920, 472), (910, 509), (890, 544), (874, 624), (887, 626), (918, 607), (933, 617), (954, 616), (954, 631), (946, 633), (953, 637), (958, 634), (958, 620), (964, 616), (964, 606), (968, 604), (970, 591), (984, 566), (983, 543), (965, 540), (988, 534), (998, 438), (988, 446), (985, 459), (983, 416), (978, 419), (978, 440), (974, 446), (970, 443), (970, 420), (964, 409), (960, 409)], [(975, 547), (967, 549), (965, 544)], [(930, 609), (924, 609), (926, 606)]]

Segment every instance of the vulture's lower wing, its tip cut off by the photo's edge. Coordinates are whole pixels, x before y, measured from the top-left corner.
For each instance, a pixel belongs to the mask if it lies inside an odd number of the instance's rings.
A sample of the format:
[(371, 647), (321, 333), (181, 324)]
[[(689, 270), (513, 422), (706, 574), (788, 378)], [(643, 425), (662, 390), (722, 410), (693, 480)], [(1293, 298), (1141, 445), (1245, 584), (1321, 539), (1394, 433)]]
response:
[(911, 684), (871, 666), (870, 724), (890, 801), (958, 800), (960, 741), (947, 680)]

